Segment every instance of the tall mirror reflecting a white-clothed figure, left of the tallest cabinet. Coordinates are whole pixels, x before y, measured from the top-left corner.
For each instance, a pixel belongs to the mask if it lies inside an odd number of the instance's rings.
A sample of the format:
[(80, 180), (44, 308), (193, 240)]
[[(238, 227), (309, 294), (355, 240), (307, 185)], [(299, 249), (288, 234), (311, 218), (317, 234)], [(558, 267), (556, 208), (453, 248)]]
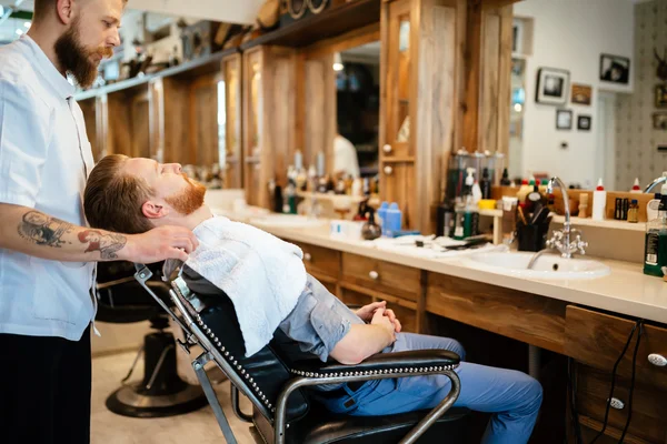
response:
[(334, 142), (337, 175), (378, 173), (380, 42), (335, 54), (338, 134)]

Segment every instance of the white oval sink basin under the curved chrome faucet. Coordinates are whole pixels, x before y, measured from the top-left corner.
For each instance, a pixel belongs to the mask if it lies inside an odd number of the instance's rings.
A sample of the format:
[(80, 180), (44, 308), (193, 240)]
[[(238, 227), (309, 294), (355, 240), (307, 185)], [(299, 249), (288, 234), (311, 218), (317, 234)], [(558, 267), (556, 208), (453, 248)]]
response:
[(556, 254), (544, 254), (527, 270), (528, 262), (535, 253), (529, 252), (489, 252), (470, 255), (468, 265), (495, 273), (518, 278), (583, 280), (596, 279), (609, 274), (604, 263), (588, 259), (564, 259)]

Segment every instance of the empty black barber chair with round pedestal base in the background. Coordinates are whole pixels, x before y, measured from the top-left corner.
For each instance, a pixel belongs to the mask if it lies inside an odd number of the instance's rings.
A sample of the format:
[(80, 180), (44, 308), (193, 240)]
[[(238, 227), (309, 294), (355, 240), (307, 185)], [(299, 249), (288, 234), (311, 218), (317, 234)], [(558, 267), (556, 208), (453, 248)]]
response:
[[(156, 275), (159, 266), (151, 265)], [(167, 332), (169, 315), (146, 293), (133, 278), (130, 262), (102, 262), (98, 264), (97, 289), (99, 307), (96, 320), (110, 323), (149, 321), (153, 330), (143, 339), (143, 346), (122, 386), (107, 398), (107, 407), (119, 415), (132, 417), (162, 417), (185, 414), (207, 404), (198, 385), (183, 382), (176, 365), (176, 340)], [(169, 302), (169, 285), (159, 279), (146, 282), (156, 295)], [(132, 371), (143, 354), (143, 379), (128, 384)]]

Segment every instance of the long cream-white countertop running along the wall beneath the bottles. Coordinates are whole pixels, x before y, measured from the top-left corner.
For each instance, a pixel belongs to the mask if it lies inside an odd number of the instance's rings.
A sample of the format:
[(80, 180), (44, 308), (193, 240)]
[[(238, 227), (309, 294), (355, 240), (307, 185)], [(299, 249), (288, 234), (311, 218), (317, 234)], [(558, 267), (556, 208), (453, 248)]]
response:
[[(227, 214), (229, 216), (229, 214)], [(241, 220), (241, 218), (231, 218)], [(242, 221), (242, 220), (241, 220)], [(246, 222), (246, 221), (243, 221)], [(641, 264), (599, 260), (607, 264), (609, 275), (593, 280), (536, 280), (481, 271), (456, 259), (426, 259), (394, 251), (379, 250), (364, 242), (329, 236), (328, 223), (317, 228), (269, 228), (262, 230), (285, 240), (310, 243), (342, 252), (359, 254), (434, 273), (448, 274), (561, 301), (588, 305), (645, 320), (667, 323), (667, 282), (643, 273)]]

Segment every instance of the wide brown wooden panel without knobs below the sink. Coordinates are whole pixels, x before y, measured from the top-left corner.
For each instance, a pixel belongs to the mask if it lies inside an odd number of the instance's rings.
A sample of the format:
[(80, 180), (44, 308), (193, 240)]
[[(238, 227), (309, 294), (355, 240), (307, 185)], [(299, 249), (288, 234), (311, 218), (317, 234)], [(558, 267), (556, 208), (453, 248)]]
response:
[(427, 312), (557, 353), (564, 352), (563, 301), (444, 274), (428, 274)]

